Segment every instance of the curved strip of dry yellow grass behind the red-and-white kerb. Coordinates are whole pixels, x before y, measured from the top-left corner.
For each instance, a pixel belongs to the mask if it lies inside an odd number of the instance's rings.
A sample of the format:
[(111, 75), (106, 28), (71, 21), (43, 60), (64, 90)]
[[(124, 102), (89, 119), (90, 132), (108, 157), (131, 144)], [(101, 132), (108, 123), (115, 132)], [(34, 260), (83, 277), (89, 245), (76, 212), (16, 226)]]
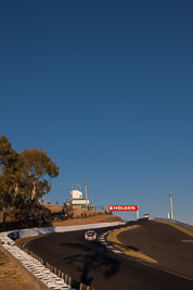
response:
[(126, 227), (123, 229), (117, 229), (115, 231), (112, 231), (111, 234), (107, 235), (107, 241), (113, 247), (115, 247), (117, 250), (120, 250), (123, 253), (125, 253), (126, 255), (129, 255), (129, 256), (138, 259), (138, 260), (143, 260), (143, 261), (150, 262), (150, 263), (157, 263), (156, 260), (153, 260), (153, 259), (151, 259), (151, 257), (138, 252), (138, 251), (134, 251), (130, 247), (120, 243), (119, 240), (117, 239), (118, 234), (120, 234), (125, 230), (131, 230), (131, 229), (134, 229), (138, 227), (140, 227), (140, 226), (131, 226), (131, 227)]

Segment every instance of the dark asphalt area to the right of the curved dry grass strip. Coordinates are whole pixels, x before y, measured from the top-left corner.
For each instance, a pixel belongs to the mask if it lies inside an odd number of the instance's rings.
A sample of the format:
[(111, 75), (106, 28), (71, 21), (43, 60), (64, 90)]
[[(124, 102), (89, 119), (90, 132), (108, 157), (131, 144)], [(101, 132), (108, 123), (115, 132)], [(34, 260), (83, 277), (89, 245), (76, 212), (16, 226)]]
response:
[(193, 279), (193, 237), (163, 223), (146, 223), (118, 240), (158, 262), (157, 266)]

